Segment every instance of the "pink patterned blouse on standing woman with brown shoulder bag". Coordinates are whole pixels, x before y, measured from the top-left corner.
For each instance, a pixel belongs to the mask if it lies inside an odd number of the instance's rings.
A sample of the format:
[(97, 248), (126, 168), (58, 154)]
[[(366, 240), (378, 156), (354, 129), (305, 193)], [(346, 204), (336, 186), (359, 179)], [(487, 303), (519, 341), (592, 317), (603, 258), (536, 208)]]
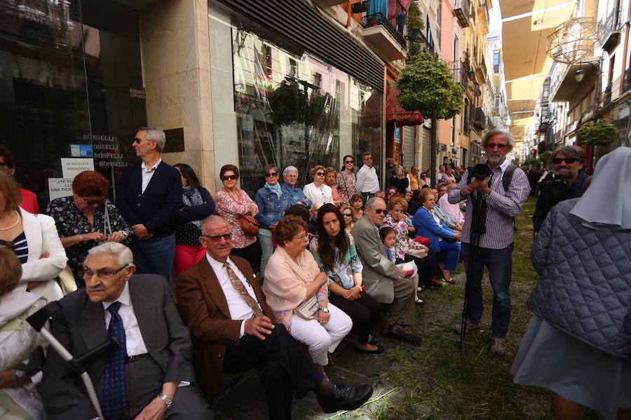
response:
[(252, 216), (256, 216), (259, 213), (259, 207), (252, 201), (252, 199), (245, 193), (244, 190), (238, 189), (239, 200), (234, 201), (230, 193), (222, 187), (215, 197), (215, 203), (217, 204), (217, 213), (222, 218), (226, 219), (230, 230), (232, 232), (232, 247), (233, 248), (245, 248), (257, 241), (257, 237), (251, 237), (245, 235), (243, 229), (241, 229), (241, 223), (239, 222), (239, 216), (252, 212)]

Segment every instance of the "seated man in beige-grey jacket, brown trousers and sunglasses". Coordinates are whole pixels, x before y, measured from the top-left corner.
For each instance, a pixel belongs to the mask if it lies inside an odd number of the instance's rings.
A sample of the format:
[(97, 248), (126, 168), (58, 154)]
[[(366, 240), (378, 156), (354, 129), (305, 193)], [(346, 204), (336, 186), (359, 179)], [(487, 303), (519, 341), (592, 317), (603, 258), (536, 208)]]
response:
[(416, 286), (404, 269), (391, 262), (379, 238), (379, 226), (384, 223), (385, 216), (386, 202), (379, 197), (372, 197), (366, 203), (364, 216), (351, 230), (355, 248), (364, 266), (364, 284), (367, 293), (375, 300), (389, 304), (386, 308), (388, 336), (420, 342), (421, 337), (412, 334), (410, 328), (416, 321)]

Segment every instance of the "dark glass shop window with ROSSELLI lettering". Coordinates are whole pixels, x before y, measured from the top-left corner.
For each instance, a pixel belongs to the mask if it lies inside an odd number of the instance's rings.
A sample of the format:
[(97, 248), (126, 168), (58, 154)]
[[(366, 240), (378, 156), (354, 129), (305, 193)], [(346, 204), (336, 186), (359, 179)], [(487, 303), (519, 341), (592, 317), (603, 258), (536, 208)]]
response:
[(1, 1), (0, 17), (0, 138), (18, 157), (18, 181), (43, 209), (60, 196), (50, 186), (73, 178), (61, 158), (90, 159), (114, 185), (146, 124), (138, 11), (114, 0)]

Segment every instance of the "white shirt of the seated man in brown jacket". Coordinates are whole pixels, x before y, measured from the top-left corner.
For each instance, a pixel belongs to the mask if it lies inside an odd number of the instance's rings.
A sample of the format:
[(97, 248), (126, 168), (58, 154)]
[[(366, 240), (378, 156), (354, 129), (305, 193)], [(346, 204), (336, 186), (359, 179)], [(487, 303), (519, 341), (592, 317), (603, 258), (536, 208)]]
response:
[[(222, 290), (224, 290), (224, 296), (226, 297), (226, 302), (228, 302), (228, 310), (230, 311), (231, 319), (241, 319), (243, 321), (252, 318), (254, 316), (254, 311), (250, 307), (247, 302), (241, 297), (238, 290), (232, 286), (232, 282), (230, 281), (230, 277), (228, 276), (228, 270), (224, 267), (223, 262), (219, 262), (212, 258), (208, 253), (206, 254), (206, 260), (208, 260), (208, 264), (210, 264), (210, 268), (215, 272), (215, 276), (217, 276), (217, 280), (219, 280), (219, 285), (222, 286)], [(236, 274), (237, 279), (243, 283), (245, 286), (245, 290), (247, 290), (247, 294), (252, 296), (252, 299), (255, 302), (259, 302), (257, 300), (257, 295), (254, 293), (254, 288), (250, 286), (250, 282), (245, 279), (245, 276), (238, 269), (234, 262), (230, 258), (228, 258), (228, 265), (230, 265), (234, 274)], [(259, 304), (260, 307), (260, 304)], [(243, 337), (245, 334), (245, 322), (241, 323), (241, 328), (239, 332), (239, 337)]]

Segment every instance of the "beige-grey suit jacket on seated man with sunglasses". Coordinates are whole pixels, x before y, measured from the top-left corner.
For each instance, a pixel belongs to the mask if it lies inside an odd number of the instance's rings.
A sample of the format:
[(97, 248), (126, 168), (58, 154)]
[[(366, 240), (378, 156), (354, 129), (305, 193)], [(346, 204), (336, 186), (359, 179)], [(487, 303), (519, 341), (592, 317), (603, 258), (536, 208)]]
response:
[(355, 248), (362, 260), (363, 283), (369, 295), (381, 303), (394, 301), (393, 280), (399, 278), (399, 269), (384, 251), (384, 244), (379, 239), (379, 232), (368, 216), (362, 216), (351, 230), (355, 239)]

